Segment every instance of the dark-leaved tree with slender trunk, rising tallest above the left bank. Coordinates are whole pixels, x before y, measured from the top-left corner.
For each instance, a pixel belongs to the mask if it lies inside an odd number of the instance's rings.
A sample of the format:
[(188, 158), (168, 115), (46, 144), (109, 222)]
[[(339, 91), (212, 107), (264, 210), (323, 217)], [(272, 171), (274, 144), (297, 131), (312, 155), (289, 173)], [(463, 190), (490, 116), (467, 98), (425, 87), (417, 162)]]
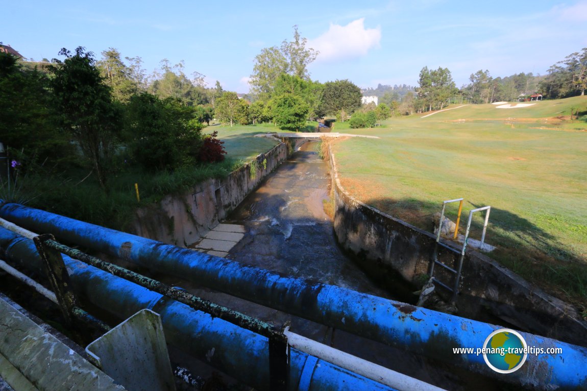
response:
[(92, 52), (77, 47), (75, 55), (63, 48), (61, 62), (53, 59), (53, 89), (60, 122), (92, 164), (100, 186), (106, 190), (106, 171), (119, 135), (120, 109), (103, 83)]

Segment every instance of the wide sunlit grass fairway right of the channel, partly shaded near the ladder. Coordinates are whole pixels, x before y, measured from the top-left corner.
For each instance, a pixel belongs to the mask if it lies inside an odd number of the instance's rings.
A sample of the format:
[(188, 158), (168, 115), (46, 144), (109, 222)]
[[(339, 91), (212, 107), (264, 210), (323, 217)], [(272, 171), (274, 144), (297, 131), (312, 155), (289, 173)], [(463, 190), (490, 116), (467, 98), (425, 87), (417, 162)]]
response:
[[(463, 228), (468, 210), (491, 205), (486, 241), (498, 250), (490, 256), (585, 308), (587, 123), (544, 120), (571, 107), (587, 110), (587, 97), (511, 109), (470, 105), (348, 130), (380, 139), (335, 145), (343, 186), (427, 230), (443, 200), (465, 198)], [(448, 208), (453, 220), (456, 208)], [(477, 239), (482, 217), (474, 219)]]

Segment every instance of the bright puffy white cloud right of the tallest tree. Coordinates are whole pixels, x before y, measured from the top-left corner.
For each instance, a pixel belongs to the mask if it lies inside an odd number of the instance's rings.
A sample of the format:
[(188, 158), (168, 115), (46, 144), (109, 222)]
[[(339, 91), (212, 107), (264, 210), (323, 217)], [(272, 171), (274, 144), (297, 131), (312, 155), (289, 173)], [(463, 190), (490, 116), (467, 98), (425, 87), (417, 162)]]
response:
[(357, 19), (346, 26), (330, 23), (330, 28), (308, 47), (319, 50), (317, 61), (332, 61), (365, 56), (369, 49), (379, 47), (381, 28), (365, 28), (365, 18)]

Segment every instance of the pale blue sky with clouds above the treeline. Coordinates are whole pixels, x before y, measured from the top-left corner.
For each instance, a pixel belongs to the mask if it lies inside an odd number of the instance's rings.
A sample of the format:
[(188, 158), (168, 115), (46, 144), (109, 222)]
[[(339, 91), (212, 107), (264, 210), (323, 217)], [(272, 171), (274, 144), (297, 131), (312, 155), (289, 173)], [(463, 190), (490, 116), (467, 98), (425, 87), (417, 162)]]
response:
[(417, 86), (427, 66), (461, 87), (481, 69), (545, 74), (587, 47), (587, 0), (6, 1), (0, 42), (35, 60), (113, 47), (147, 73), (183, 60), (185, 74), (246, 93), (255, 56), (292, 40), (294, 25), (320, 52), (313, 80)]

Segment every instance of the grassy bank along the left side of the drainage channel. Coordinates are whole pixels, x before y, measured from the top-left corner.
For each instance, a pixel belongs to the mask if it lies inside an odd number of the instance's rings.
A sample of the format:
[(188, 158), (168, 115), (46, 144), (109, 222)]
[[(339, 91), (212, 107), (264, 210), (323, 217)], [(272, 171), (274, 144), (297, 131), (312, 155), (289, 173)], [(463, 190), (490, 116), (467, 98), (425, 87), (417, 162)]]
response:
[[(89, 173), (81, 169), (57, 176), (40, 172), (17, 178), (16, 186), (1, 189), (1, 198), (25, 202), (34, 208), (97, 225), (124, 229), (133, 218), (135, 208), (159, 202), (168, 194), (185, 191), (206, 179), (225, 178), (234, 169), (277, 144), (275, 140), (254, 137), (255, 134), (275, 131), (271, 125), (232, 128), (215, 125), (205, 128), (204, 132), (215, 130), (218, 138), (225, 141), (227, 151), (221, 163), (150, 173), (122, 162), (109, 176), (108, 193), (100, 188), (95, 176), (88, 176)], [(140, 202), (137, 202), (135, 183), (139, 186)]]

